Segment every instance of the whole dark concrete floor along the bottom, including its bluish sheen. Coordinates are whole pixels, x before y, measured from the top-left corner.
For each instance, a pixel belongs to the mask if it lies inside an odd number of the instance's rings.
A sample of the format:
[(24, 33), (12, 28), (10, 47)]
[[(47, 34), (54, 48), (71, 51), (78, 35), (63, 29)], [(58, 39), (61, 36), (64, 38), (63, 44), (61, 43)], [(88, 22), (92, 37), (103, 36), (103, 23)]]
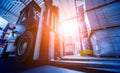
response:
[(82, 68), (65, 65), (19, 64), (14, 58), (0, 58), (0, 73), (112, 73), (120, 69)]

